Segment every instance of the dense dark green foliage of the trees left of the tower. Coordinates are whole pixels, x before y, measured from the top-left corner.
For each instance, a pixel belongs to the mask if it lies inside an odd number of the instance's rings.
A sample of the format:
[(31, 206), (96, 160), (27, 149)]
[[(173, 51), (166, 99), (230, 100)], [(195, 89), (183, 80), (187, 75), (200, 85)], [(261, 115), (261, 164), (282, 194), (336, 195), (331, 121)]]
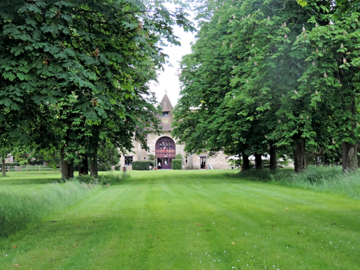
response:
[(1, 143), (60, 150), (64, 168), (89, 158), (94, 174), (100, 142), (146, 148), (159, 130), (148, 82), (166, 62), (162, 40), (180, 44), (174, 25), (194, 29), (181, 4), (5, 0), (0, 16)]

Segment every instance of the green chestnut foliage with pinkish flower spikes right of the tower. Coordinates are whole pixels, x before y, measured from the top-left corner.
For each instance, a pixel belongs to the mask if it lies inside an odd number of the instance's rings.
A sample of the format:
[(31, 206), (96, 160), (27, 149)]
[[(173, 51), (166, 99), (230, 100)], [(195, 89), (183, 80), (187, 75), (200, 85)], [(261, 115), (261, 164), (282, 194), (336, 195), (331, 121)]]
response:
[(300, 171), (305, 150), (321, 148), (331, 160), (342, 147), (350, 149), (346, 163), (360, 136), (360, 13), (353, 3), (227, 0), (207, 8), (198, 7), (201, 29), (180, 64), (173, 136), (185, 151), (276, 148)]

